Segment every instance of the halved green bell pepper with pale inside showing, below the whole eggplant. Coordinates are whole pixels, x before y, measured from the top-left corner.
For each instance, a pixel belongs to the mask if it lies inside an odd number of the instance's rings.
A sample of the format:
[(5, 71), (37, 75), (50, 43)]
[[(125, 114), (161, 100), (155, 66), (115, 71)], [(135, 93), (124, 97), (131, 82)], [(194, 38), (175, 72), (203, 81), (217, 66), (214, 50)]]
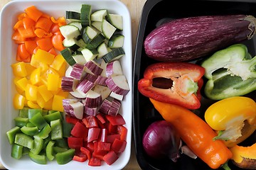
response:
[(204, 92), (213, 100), (242, 96), (256, 89), (256, 57), (242, 44), (215, 52), (201, 64), (208, 79)]

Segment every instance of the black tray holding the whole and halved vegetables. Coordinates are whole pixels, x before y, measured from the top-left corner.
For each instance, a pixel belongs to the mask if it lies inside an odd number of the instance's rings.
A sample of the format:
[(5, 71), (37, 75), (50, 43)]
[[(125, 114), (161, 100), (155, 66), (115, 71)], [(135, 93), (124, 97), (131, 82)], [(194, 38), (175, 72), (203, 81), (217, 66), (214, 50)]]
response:
[[(144, 5), (137, 45), (134, 58), (134, 95), (133, 95), (133, 128), (137, 162), (142, 169), (174, 169), (174, 170), (207, 170), (210, 167), (197, 158), (196, 160), (181, 154), (178, 162), (171, 162), (169, 159), (151, 159), (146, 155), (142, 146), (142, 136), (146, 128), (156, 120), (162, 120), (161, 115), (154, 109), (149, 98), (139, 94), (137, 82), (142, 79), (144, 70), (149, 64), (156, 61), (146, 57), (143, 42), (151, 30), (169, 19), (183, 18), (188, 16), (221, 15), (221, 14), (250, 14), (256, 16), (256, 1), (170, 1), (170, 0), (148, 0)], [(255, 35), (256, 37), (256, 35)], [(251, 55), (255, 54), (255, 38), (242, 42), (248, 47)], [(197, 62), (197, 61), (194, 61)], [(203, 89), (203, 88), (202, 88)], [(202, 91), (203, 93), (203, 91)], [(256, 100), (256, 93), (247, 94)], [(203, 118), (206, 108), (214, 101), (202, 98), (201, 108), (193, 111)], [(249, 146), (256, 142), (256, 132), (240, 145)], [(233, 170), (238, 170), (232, 162), (228, 165)], [(221, 168), (220, 168), (221, 169)], [(242, 169), (241, 169), (242, 170)]]

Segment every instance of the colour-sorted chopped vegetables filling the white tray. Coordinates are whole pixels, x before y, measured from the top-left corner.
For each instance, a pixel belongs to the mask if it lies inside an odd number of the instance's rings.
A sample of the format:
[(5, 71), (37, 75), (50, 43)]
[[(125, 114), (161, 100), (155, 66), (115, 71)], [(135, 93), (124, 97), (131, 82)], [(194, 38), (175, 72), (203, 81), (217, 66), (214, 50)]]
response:
[(36, 6), (18, 16), (11, 67), (19, 115), (6, 132), (11, 157), (89, 166), (117, 161), (127, 145), (119, 111), (130, 91), (119, 62), (122, 29), (122, 16), (88, 4), (57, 20)]

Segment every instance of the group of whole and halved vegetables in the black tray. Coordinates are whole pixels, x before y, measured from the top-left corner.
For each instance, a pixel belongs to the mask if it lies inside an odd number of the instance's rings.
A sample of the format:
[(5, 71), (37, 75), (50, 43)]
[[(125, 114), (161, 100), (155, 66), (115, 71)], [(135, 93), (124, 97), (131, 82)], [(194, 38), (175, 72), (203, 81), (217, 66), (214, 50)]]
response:
[[(245, 96), (256, 90), (256, 57), (242, 44), (254, 34), (253, 16), (234, 15), (181, 18), (146, 36), (146, 55), (161, 62), (144, 69), (138, 90), (161, 121), (174, 127), (163, 136), (162, 127), (155, 126), (159, 120), (149, 125), (142, 141), (149, 157), (169, 157), (171, 150), (198, 157), (211, 169), (229, 169), (229, 160), (242, 169), (255, 169), (255, 145), (240, 146), (256, 130), (256, 103)], [(196, 114), (202, 98), (210, 101), (204, 103), (203, 119)], [(166, 146), (176, 135), (183, 146)]]

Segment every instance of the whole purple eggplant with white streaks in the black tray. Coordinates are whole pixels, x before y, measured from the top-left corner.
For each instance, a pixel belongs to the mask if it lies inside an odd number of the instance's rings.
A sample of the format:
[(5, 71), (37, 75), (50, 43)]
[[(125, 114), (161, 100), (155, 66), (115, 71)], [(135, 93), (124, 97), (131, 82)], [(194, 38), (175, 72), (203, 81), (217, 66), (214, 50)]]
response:
[(146, 36), (146, 55), (161, 62), (183, 62), (212, 52), (255, 34), (253, 16), (196, 16), (180, 18), (155, 28)]

